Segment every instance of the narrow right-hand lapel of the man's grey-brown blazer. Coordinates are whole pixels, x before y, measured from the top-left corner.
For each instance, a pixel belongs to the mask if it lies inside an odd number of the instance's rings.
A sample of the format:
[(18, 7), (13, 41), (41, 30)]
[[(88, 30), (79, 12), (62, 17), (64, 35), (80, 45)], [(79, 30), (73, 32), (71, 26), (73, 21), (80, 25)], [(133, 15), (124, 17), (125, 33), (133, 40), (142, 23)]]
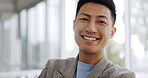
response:
[(107, 66), (108, 61), (103, 56), (94, 66), (94, 68), (90, 71), (87, 78), (98, 78), (100, 74), (104, 71)]

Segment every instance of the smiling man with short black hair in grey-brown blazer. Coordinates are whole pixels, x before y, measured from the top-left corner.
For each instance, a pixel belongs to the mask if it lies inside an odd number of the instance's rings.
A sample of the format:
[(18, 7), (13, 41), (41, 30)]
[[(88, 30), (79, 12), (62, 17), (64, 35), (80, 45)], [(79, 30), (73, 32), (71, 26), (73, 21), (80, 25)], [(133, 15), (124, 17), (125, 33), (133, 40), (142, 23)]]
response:
[(135, 78), (128, 69), (103, 56), (104, 47), (116, 32), (112, 0), (79, 0), (73, 21), (79, 55), (75, 59), (49, 60), (39, 78)]

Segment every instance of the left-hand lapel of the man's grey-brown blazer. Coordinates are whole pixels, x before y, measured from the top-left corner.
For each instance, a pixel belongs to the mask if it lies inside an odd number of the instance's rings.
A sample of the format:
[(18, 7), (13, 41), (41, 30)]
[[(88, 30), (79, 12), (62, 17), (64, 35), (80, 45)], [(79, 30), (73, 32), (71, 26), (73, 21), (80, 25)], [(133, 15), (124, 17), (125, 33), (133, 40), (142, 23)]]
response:
[(55, 71), (53, 74), (53, 78), (74, 78), (77, 59), (69, 62), (64, 68), (61, 68), (59, 71)]

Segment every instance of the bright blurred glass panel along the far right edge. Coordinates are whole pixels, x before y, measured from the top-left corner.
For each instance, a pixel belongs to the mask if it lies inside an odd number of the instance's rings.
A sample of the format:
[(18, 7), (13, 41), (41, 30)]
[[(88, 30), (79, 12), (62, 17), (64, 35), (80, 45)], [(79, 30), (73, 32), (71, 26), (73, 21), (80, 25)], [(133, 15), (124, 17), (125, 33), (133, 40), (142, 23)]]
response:
[(138, 78), (148, 78), (148, 1), (132, 0), (130, 7), (132, 67)]

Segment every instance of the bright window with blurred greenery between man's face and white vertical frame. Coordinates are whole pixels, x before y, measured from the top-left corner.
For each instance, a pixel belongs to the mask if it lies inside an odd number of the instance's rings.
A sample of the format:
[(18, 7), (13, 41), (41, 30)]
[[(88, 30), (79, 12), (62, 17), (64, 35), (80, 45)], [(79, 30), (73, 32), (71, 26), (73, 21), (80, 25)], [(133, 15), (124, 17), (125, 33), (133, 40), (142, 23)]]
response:
[(116, 23), (117, 29), (113, 39), (108, 42), (105, 54), (109, 60), (122, 67), (125, 66), (125, 24), (123, 22), (124, 15), (124, 0), (114, 0), (116, 5)]

